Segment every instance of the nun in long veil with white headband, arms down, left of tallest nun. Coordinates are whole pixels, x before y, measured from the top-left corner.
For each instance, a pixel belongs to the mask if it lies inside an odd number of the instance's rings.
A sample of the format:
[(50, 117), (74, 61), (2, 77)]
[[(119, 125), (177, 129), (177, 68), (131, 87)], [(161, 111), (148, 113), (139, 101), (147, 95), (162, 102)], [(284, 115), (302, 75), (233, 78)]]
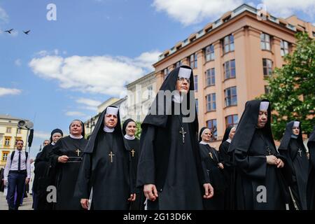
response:
[(119, 111), (108, 106), (83, 153), (75, 195), (84, 209), (127, 210), (136, 197), (130, 174), (130, 153), (125, 148)]

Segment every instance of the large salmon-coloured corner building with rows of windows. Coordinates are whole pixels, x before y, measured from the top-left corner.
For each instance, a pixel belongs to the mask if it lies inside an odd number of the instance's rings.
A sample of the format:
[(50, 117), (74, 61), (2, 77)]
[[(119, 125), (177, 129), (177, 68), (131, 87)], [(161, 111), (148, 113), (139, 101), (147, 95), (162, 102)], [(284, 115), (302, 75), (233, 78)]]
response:
[(295, 33), (315, 36), (315, 27), (295, 15), (258, 14), (243, 4), (165, 50), (153, 64), (157, 88), (176, 66), (193, 68), (200, 127), (213, 128), (218, 140), (225, 127), (237, 125), (246, 101), (268, 91), (264, 78), (294, 50)]

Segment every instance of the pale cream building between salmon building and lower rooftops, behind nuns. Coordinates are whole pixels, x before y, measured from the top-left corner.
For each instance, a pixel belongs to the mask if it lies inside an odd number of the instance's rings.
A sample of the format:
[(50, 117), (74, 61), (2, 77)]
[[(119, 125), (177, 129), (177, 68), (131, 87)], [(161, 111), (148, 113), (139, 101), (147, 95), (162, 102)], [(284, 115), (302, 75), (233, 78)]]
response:
[(142, 122), (157, 92), (155, 72), (148, 73), (127, 87), (127, 118)]

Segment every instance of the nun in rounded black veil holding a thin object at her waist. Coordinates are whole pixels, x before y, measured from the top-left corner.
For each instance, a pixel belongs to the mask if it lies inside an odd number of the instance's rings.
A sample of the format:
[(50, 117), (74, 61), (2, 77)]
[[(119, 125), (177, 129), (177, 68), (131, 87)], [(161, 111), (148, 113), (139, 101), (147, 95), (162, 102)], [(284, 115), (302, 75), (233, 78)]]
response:
[(69, 126), (70, 135), (59, 139), (52, 147), (50, 159), (55, 169), (55, 186), (57, 188), (57, 202), (55, 210), (80, 210), (80, 198), (73, 197), (73, 191), (78, 178), (82, 153), (87, 144), (84, 138), (84, 124), (80, 120), (73, 120)]

